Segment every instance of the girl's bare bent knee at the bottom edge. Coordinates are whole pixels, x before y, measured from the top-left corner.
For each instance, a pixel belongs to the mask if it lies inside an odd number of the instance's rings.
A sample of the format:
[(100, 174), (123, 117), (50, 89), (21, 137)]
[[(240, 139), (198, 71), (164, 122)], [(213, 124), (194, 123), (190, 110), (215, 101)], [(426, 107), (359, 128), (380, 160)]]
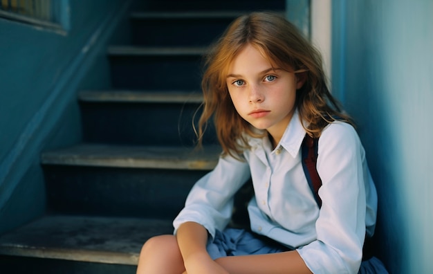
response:
[(176, 237), (162, 235), (146, 241), (138, 259), (137, 274), (181, 274), (184, 271)]

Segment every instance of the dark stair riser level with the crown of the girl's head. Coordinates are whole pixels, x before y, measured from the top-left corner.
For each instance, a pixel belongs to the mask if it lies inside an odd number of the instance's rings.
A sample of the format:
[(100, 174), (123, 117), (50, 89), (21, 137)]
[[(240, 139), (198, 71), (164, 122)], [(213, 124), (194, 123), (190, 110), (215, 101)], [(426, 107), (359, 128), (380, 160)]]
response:
[(209, 46), (233, 19), (133, 19), (132, 42), (146, 46)]

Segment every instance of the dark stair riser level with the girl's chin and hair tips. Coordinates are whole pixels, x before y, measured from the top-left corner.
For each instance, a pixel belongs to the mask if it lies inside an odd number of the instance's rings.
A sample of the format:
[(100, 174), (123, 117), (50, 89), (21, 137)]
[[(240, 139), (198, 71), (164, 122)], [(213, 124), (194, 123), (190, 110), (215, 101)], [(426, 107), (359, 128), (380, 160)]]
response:
[[(196, 143), (192, 120), (198, 107), (199, 104), (82, 103), (84, 141), (192, 146)], [(203, 143), (217, 143), (212, 127), (206, 131)]]

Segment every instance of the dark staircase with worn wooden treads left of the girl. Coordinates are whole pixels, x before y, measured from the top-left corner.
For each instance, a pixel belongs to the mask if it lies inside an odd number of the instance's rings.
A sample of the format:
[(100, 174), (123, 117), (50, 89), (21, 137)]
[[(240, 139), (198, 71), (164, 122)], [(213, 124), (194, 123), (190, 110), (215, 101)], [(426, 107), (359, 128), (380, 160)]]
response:
[(46, 151), (48, 210), (0, 236), (0, 273), (135, 273), (220, 152), (194, 150), (201, 57), (238, 15), (285, 1), (137, 1), (131, 44), (107, 48), (111, 89), (79, 91), (82, 143)]

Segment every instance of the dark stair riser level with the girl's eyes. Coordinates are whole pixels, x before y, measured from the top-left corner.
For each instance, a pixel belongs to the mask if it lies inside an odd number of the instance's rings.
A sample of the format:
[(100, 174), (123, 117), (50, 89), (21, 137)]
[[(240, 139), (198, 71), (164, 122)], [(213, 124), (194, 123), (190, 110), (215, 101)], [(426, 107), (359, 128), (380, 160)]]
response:
[(115, 89), (201, 90), (200, 55), (111, 56)]

